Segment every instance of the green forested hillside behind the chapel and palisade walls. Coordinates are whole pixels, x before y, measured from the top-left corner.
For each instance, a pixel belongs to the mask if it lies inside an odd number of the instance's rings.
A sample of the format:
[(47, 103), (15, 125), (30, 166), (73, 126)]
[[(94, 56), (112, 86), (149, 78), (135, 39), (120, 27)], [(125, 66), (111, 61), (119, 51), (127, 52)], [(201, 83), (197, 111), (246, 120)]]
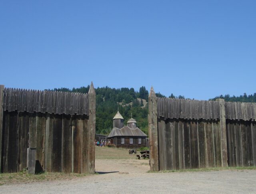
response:
[[(54, 89), (55, 91), (69, 91), (88, 93), (90, 86), (80, 88), (60, 88)], [(139, 91), (135, 91), (134, 88), (110, 88), (110, 87), (98, 87), (96, 91), (96, 133), (107, 135), (113, 127), (113, 117), (117, 110), (124, 117), (124, 123), (126, 125), (127, 120), (132, 117), (136, 119), (137, 126), (148, 135), (148, 104), (144, 103), (148, 101), (148, 90), (146, 87), (140, 87)], [(156, 93), (157, 97), (166, 97), (161, 93)], [(171, 94), (169, 98), (182, 98), (184, 96), (174, 96)], [(210, 100), (216, 100), (223, 98), (225, 101), (239, 101), (239, 102), (256, 102), (256, 93), (254, 95), (220, 95)], [(144, 99), (144, 100), (142, 100)]]

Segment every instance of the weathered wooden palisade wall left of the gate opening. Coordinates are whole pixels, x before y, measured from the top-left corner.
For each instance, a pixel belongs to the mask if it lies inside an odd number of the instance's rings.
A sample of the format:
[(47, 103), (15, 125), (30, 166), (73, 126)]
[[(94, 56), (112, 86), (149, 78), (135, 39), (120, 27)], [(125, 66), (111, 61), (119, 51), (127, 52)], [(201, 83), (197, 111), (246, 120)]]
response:
[(36, 147), (36, 160), (46, 172), (95, 171), (92, 84), (88, 94), (0, 89), (1, 172), (26, 168), (28, 147)]

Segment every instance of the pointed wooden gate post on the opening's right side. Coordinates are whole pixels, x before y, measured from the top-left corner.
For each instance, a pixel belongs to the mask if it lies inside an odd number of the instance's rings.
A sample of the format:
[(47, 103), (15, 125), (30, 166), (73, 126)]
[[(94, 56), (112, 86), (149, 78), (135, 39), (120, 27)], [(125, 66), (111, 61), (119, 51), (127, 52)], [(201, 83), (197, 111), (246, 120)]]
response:
[(150, 170), (159, 171), (157, 104), (153, 87), (148, 96), (148, 136), (150, 146)]

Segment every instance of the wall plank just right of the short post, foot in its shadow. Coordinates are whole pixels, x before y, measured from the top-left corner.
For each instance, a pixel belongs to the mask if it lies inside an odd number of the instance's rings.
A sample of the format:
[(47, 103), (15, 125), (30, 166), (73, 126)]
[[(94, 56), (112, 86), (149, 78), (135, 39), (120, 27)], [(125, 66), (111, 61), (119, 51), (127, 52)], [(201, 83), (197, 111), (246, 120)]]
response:
[(36, 113), (36, 160), (43, 170), (45, 170), (45, 126), (44, 114)]

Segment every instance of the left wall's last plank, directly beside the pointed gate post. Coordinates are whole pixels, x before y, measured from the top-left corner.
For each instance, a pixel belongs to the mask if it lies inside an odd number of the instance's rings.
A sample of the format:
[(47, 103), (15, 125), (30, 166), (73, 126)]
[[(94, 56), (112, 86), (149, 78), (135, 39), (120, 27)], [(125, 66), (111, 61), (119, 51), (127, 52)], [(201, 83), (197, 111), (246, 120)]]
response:
[(83, 174), (89, 173), (89, 170), (88, 170), (88, 120), (89, 120), (88, 116), (86, 115), (82, 116), (81, 173)]

